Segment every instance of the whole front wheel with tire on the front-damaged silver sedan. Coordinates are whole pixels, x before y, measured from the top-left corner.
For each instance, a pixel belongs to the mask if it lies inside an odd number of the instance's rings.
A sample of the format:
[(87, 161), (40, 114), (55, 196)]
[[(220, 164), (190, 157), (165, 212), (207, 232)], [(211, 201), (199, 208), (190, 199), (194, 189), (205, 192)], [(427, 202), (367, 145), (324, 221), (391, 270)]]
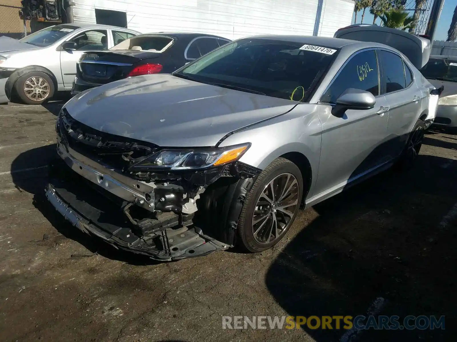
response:
[(257, 177), (246, 196), (237, 226), (237, 244), (257, 253), (277, 244), (297, 216), (303, 194), (300, 169), (277, 158)]

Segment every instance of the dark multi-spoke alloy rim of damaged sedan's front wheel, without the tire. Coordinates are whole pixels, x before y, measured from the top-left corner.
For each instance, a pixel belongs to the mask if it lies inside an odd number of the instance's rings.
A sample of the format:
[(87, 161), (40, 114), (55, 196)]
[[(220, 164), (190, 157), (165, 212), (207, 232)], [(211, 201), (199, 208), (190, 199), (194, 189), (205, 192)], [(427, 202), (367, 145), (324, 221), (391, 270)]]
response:
[(252, 234), (259, 244), (282, 237), (298, 210), (298, 181), (291, 173), (273, 178), (263, 189), (252, 215)]

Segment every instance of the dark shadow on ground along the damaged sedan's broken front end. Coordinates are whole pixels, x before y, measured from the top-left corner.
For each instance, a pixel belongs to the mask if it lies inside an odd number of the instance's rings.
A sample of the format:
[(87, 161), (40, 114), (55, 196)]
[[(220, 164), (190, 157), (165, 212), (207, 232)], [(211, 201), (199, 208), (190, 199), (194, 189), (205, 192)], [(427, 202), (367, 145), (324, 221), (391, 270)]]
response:
[[(27, 150), (16, 157), (11, 163), (11, 176), (16, 188), (21, 192), (33, 194), (33, 205), (66, 238), (72, 239), (86, 249), (87, 255), (97, 253), (106, 258), (119, 260), (133, 265), (157, 264), (147, 256), (117, 250), (98, 238), (93, 238), (73, 227), (60, 215), (45, 197), (48, 184), (47, 165), (57, 158), (56, 144), (45, 145)], [(35, 169), (30, 172), (14, 172), (14, 170)]]

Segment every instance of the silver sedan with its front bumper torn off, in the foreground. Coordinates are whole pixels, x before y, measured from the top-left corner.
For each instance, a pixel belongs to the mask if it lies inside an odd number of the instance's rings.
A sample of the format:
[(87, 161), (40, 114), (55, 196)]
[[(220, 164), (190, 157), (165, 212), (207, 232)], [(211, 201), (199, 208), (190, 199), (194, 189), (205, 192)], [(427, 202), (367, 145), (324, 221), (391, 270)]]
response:
[(154, 259), (260, 252), (300, 208), (410, 166), (433, 89), (386, 45), (239, 39), (72, 98), (46, 196), (85, 233)]

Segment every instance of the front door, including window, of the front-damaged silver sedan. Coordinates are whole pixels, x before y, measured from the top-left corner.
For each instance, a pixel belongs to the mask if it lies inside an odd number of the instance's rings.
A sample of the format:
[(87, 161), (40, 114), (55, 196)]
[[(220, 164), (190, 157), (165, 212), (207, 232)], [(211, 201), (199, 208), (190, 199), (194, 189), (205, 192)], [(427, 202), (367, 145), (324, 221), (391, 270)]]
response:
[[(347, 110), (343, 117), (331, 113), (347, 88), (366, 90), (376, 97), (374, 108)], [(344, 186), (388, 159), (386, 129), (389, 105), (380, 94), (379, 67), (374, 50), (353, 55), (342, 67), (319, 104), (322, 148), (314, 195)], [(324, 104), (322, 104), (324, 103)]]

